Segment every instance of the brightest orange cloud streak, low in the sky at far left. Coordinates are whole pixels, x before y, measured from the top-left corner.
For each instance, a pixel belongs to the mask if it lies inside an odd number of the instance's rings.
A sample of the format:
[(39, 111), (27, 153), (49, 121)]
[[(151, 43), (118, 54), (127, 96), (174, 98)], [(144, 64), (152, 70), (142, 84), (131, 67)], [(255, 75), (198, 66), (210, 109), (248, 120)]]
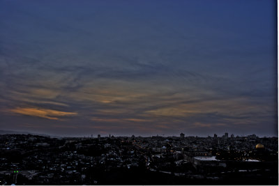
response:
[(74, 116), (75, 112), (56, 111), (52, 109), (38, 109), (38, 108), (20, 108), (10, 109), (13, 113), (23, 114), (27, 116), (37, 116), (40, 118), (48, 118), (51, 120), (58, 120), (59, 116)]

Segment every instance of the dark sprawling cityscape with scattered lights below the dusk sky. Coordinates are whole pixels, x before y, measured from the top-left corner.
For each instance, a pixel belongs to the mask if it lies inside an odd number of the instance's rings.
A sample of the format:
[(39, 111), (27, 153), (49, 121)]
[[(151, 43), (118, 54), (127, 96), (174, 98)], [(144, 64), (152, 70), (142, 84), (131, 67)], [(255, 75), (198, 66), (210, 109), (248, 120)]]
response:
[(0, 135), (1, 185), (278, 185), (278, 137)]

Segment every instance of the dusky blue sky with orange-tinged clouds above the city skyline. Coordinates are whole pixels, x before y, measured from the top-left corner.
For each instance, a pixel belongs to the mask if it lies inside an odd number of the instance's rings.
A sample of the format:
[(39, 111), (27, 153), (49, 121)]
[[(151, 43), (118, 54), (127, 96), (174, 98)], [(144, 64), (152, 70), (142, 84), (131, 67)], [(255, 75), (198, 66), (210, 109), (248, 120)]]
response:
[(1, 0), (0, 130), (277, 137), (276, 9)]

